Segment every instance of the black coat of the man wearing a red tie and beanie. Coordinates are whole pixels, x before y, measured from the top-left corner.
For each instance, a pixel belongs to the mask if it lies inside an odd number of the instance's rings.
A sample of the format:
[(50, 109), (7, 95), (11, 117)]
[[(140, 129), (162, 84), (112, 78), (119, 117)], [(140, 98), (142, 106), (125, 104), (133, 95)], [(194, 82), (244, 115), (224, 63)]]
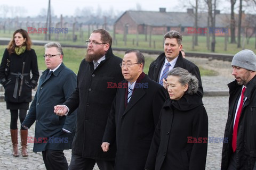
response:
[[(238, 99), (241, 96), (242, 86), (233, 81), (229, 87), (228, 119), (224, 137), (228, 143), (223, 143), (221, 169), (227, 169), (233, 152), (232, 138), (233, 125)], [(256, 77), (246, 84), (246, 90), (241, 117), (237, 129), (236, 160), (237, 169), (256, 169)]]

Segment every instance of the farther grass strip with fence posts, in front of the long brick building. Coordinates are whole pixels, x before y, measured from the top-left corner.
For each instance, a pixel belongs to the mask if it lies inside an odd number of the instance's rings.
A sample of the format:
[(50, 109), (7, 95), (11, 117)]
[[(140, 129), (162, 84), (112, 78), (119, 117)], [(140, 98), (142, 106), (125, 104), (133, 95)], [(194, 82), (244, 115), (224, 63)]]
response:
[[(0, 37), (10, 38), (12, 37), (12, 33), (14, 30), (6, 30), (5, 33), (3, 30), (0, 30)], [(10, 33), (9, 33), (10, 32)], [(113, 36), (113, 32), (110, 31), (111, 36)], [(69, 45), (85, 45), (85, 40), (89, 38), (89, 33), (87, 31), (83, 31), (82, 35), (80, 32), (75, 32), (75, 35), (77, 35), (77, 41), (72, 41), (73, 32), (72, 30), (69, 30), (67, 34), (51, 34), (51, 40), (52, 41), (59, 41), (61, 44), (69, 44)], [(31, 39), (35, 40), (44, 40), (44, 34), (43, 33), (30, 33), (29, 36)], [(58, 38), (59, 36), (59, 38)], [(152, 35), (151, 37), (151, 47), (149, 47), (149, 35), (147, 35), (147, 41), (145, 35), (139, 35), (139, 43), (137, 46), (136, 35), (127, 35), (127, 41), (126, 45), (123, 41), (123, 35), (116, 34), (116, 41), (113, 42), (113, 47), (118, 48), (133, 48), (133, 49), (151, 49), (151, 50), (163, 50), (163, 35)], [(155, 41), (155, 43), (154, 43)], [(221, 54), (236, 54), (242, 48), (237, 48), (237, 44), (229, 44), (227, 45), (227, 51), (224, 50), (224, 42), (225, 37), (216, 37), (216, 44), (215, 44), (215, 53), (221, 53)], [(154, 46), (155, 44), (155, 46)], [(255, 37), (252, 37), (250, 39), (249, 44), (246, 44), (246, 39), (244, 36), (241, 36), (241, 44), (245, 49), (251, 49), (255, 51)], [(206, 47), (206, 37), (205, 36), (198, 36), (198, 46), (195, 46), (195, 49), (192, 49), (192, 36), (183, 36), (182, 40), (183, 49), (186, 50), (186, 52), (202, 52), (202, 53), (210, 53), (210, 50), (207, 50)]]

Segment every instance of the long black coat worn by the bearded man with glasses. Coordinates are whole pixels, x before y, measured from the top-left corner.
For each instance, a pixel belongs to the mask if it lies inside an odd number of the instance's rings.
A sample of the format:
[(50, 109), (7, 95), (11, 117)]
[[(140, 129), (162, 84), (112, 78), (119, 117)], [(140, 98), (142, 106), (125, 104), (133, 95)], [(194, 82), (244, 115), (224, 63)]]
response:
[(122, 59), (109, 48), (106, 60), (94, 70), (92, 62), (82, 60), (78, 75), (77, 88), (64, 103), (71, 112), (78, 107), (77, 129), (72, 152), (85, 158), (115, 160), (116, 150), (103, 152), (102, 137), (107, 124), (116, 88), (108, 88), (107, 82), (118, 83), (123, 75), (120, 67)]

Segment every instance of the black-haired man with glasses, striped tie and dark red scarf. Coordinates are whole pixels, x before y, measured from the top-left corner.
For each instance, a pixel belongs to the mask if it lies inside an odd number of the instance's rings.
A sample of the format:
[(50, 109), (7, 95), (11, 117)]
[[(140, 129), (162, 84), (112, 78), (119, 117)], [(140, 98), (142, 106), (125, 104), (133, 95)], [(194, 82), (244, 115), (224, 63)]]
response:
[(143, 72), (144, 64), (138, 50), (128, 50), (121, 63), (125, 80), (118, 84), (101, 145), (109, 152), (116, 143), (116, 170), (144, 169), (166, 98), (163, 86)]

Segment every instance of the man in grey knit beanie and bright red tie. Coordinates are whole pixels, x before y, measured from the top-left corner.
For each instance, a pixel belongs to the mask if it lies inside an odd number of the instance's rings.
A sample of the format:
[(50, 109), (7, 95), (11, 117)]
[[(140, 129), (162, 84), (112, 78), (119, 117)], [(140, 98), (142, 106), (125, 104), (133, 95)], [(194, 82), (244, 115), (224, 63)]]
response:
[(228, 84), (229, 109), (221, 169), (256, 169), (256, 55), (238, 52), (231, 62), (235, 81)]

